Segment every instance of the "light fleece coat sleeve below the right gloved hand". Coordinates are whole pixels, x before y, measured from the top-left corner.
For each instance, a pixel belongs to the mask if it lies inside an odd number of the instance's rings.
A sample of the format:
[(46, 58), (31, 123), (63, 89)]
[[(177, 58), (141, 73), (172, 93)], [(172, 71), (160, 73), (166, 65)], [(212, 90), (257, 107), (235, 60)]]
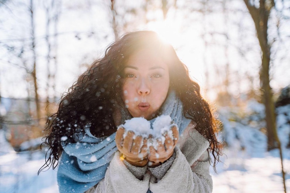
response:
[(190, 166), (180, 149), (175, 147), (175, 160), (170, 169), (158, 182), (151, 178), (149, 188), (152, 192), (212, 192), (209, 161), (199, 160)]

